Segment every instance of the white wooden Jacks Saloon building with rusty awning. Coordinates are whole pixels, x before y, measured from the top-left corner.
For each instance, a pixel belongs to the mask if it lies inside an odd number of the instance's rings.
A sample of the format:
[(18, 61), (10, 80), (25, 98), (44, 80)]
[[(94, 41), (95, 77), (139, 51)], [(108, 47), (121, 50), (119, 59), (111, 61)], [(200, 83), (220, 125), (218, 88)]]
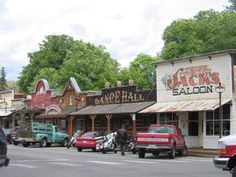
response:
[[(215, 149), (220, 132), (236, 134), (235, 54), (227, 50), (155, 63), (157, 103), (141, 113), (157, 113), (159, 123), (177, 124), (188, 147)], [(215, 89), (220, 83), (221, 99)]]

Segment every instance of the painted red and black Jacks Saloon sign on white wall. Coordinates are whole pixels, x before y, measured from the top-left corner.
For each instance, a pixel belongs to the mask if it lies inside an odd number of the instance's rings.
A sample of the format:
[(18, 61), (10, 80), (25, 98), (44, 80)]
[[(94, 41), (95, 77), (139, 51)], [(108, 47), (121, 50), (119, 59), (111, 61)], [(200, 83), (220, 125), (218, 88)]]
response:
[(162, 78), (166, 89), (173, 96), (213, 93), (219, 84), (219, 73), (213, 72), (207, 65), (180, 68), (174, 74)]

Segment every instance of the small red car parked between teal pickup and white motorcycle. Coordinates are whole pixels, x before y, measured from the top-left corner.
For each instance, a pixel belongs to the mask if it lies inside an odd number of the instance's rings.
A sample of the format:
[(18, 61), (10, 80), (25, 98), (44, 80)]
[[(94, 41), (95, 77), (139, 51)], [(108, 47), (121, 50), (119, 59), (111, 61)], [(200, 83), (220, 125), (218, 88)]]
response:
[(102, 139), (103, 136), (99, 132), (87, 132), (77, 138), (75, 147), (77, 147), (78, 151), (82, 151), (83, 149), (96, 151), (96, 145)]

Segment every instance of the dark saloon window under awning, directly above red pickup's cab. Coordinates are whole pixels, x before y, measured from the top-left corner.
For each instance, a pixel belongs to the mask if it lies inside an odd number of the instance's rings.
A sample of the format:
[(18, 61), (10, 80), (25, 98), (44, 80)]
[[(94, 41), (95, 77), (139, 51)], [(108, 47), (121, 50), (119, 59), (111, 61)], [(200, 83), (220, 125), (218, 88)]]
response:
[(171, 124), (179, 126), (179, 116), (177, 113), (161, 113), (160, 124)]

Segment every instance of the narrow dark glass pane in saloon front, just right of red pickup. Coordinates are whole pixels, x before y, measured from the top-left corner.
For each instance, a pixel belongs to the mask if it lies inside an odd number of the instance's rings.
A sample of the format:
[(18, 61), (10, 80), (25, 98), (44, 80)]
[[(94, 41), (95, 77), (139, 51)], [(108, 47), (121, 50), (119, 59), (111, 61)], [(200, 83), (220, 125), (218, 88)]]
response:
[(198, 136), (198, 112), (188, 113), (188, 135)]

